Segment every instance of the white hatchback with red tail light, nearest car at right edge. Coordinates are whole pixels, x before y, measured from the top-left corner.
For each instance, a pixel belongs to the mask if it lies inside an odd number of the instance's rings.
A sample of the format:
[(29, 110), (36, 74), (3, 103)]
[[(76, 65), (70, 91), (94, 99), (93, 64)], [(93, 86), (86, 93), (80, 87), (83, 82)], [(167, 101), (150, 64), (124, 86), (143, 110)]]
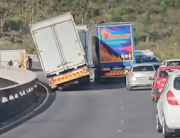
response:
[(167, 78), (157, 102), (156, 128), (164, 138), (180, 134), (180, 71)]

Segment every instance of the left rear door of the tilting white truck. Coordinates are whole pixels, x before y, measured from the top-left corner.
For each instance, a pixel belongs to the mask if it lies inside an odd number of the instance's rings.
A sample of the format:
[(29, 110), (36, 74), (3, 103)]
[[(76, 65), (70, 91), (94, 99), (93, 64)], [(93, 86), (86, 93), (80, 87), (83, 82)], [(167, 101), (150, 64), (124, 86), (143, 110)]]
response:
[(53, 34), (52, 26), (34, 30), (32, 34), (38, 49), (42, 68), (46, 74), (62, 70), (64, 66), (62, 65), (62, 58)]

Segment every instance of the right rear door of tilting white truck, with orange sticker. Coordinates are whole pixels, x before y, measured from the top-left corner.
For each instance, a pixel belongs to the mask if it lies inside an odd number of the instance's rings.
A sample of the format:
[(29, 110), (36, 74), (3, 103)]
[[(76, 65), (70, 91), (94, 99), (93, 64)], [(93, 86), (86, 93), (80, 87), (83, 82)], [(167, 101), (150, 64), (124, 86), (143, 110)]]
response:
[(66, 20), (55, 24), (54, 28), (67, 68), (84, 64), (84, 51), (74, 21), (72, 19)]

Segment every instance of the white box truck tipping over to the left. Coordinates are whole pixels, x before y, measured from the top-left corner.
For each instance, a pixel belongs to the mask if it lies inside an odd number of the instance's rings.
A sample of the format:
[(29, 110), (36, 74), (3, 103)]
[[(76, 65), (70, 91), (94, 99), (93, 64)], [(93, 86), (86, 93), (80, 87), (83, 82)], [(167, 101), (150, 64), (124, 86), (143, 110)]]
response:
[(85, 53), (70, 13), (31, 24), (30, 31), (52, 89), (73, 81), (90, 83)]

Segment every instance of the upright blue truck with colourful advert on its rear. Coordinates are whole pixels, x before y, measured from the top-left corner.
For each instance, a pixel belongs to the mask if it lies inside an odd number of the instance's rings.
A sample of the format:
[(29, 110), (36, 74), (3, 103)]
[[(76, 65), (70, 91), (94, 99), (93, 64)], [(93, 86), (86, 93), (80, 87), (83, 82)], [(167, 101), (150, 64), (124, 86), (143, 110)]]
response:
[(131, 65), (136, 64), (133, 23), (99, 24), (91, 38), (97, 56), (95, 81), (125, 77)]

